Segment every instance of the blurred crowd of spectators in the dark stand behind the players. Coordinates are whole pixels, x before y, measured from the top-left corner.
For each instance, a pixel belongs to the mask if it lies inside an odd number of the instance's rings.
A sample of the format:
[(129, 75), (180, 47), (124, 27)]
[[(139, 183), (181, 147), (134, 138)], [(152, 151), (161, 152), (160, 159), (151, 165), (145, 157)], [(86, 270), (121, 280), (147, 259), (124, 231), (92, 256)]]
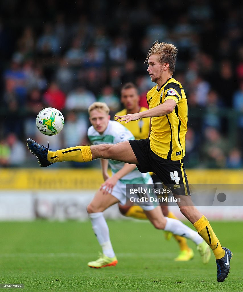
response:
[[(0, 167), (36, 165), (29, 137), (53, 150), (89, 143), (87, 108), (106, 102), (113, 117), (126, 82), (147, 107), (154, 84), (144, 60), (156, 40), (179, 51), (173, 77), (188, 99), (186, 166), (243, 166), (243, 3), (61, 2), (0, 2)], [(57, 136), (36, 129), (45, 107), (64, 114)]]

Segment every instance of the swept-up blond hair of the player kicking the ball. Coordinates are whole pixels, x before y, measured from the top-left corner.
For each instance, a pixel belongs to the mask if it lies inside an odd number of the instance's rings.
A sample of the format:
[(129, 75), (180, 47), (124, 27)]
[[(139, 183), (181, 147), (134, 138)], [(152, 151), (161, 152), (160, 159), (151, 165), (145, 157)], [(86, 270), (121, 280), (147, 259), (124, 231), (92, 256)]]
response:
[(175, 72), (177, 52), (177, 48), (173, 44), (160, 43), (159, 41), (155, 41), (153, 46), (150, 48), (144, 63), (148, 62), (151, 55), (158, 55), (160, 64), (163, 65), (164, 63), (168, 63), (169, 73), (173, 75)]

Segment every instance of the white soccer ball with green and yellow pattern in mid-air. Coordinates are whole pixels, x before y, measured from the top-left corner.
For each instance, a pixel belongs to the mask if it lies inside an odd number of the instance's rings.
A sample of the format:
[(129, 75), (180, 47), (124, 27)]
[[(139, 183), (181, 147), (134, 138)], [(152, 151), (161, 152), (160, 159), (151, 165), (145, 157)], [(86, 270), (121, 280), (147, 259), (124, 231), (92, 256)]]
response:
[(38, 113), (36, 126), (45, 135), (57, 135), (64, 126), (64, 117), (58, 109), (47, 107)]

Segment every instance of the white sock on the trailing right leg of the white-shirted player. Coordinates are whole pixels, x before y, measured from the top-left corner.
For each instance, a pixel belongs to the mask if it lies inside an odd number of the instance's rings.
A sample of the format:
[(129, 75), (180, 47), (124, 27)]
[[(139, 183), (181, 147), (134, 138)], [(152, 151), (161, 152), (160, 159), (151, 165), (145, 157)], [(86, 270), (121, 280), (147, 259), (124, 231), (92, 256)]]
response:
[(180, 220), (168, 217), (165, 217), (165, 219), (167, 221), (164, 229), (165, 231), (170, 231), (173, 234), (189, 238), (196, 244), (200, 244), (203, 241), (202, 237), (200, 237), (196, 231), (183, 224)]

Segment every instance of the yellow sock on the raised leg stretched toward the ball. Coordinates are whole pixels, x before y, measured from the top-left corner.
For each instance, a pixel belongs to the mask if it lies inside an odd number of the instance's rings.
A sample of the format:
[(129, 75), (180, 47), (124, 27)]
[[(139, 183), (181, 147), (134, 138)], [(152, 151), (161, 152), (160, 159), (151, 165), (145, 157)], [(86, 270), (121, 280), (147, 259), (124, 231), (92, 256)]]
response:
[(88, 162), (92, 160), (90, 146), (76, 146), (57, 151), (48, 150), (47, 160), (49, 162), (75, 161)]

